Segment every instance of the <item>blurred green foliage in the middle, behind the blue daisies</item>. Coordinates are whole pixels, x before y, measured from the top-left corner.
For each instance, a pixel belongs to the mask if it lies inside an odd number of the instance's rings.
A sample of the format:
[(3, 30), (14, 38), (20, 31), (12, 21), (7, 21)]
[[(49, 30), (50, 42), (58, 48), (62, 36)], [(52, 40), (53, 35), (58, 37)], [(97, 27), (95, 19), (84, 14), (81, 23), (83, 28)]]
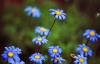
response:
[[(9, 39), (9, 42), (6, 45), (19, 46), (22, 48), (23, 54), (29, 52), (27, 47), (35, 48), (35, 44), (32, 43), (32, 38), (37, 37), (38, 34), (35, 34), (34, 28), (36, 26), (50, 28), (54, 21), (54, 17), (49, 15), (49, 9), (59, 8), (59, 6), (57, 6), (53, 1), (49, 0), (41, 2), (41, 4), (37, 3), (38, 2), (35, 0), (24, 0), (24, 5), (5, 7), (7, 10), (13, 10), (13, 12), (5, 11), (3, 16), (5, 25), (2, 31)], [(24, 8), (27, 5), (37, 6), (40, 8), (42, 13), (41, 18), (31, 18), (31, 21), (29, 21), (29, 16), (27, 16), (27, 13), (24, 12)], [(75, 50), (78, 47), (78, 44), (85, 42), (85, 39), (82, 38), (82, 28), (86, 23), (88, 23), (89, 18), (87, 18), (85, 14), (79, 12), (74, 3), (68, 6), (68, 8), (66, 8), (66, 6), (64, 7), (64, 11), (66, 11), (67, 14), (67, 19), (65, 21), (56, 20), (56, 23), (48, 37), (48, 43), (44, 44), (41, 48), (41, 52), (45, 54), (46, 59), (49, 60), (48, 62), (50, 62), (50, 57), (47, 55), (49, 46), (59, 45), (63, 50), (62, 57), (68, 60), (67, 57), (69, 57), (70, 53), (76, 53)], [(28, 22), (30, 22), (30, 24), (28, 24)], [(30, 54), (32, 53), (29, 53), (29, 55)], [(95, 64), (94, 60), (96, 59), (93, 58), (91, 60), (89, 60), (90, 64)], [(98, 62), (99, 60), (100, 58), (98, 59)], [(70, 61), (67, 61), (67, 64), (69, 62)], [(66, 62), (64, 62), (64, 64), (66, 64)]]

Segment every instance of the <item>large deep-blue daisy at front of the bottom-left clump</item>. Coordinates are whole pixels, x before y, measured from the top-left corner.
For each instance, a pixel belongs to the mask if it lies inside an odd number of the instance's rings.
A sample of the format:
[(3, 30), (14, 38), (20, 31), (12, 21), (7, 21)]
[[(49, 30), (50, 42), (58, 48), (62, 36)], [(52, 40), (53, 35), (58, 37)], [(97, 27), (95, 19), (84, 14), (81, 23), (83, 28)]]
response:
[(1, 54), (3, 60), (8, 59), (8, 63), (13, 60), (20, 61), (20, 58), (18, 56), (18, 53), (15, 51), (14, 46), (5, 47), (5, 49), (6, 50), (3, 52), (3, 54)]

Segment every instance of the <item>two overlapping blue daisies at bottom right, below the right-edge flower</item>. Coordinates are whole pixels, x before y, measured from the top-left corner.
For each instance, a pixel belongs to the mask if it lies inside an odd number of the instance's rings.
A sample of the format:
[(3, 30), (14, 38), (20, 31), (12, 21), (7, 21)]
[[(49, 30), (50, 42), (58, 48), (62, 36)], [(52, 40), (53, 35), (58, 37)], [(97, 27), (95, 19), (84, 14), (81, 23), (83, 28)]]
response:
[(87, 64), (87, 56), (92, 56), (92, 50), (85, 44), (82, 44), (76, 48), (76, 51), (78, 55), (73, 57), (75, 59), (74, 64)]

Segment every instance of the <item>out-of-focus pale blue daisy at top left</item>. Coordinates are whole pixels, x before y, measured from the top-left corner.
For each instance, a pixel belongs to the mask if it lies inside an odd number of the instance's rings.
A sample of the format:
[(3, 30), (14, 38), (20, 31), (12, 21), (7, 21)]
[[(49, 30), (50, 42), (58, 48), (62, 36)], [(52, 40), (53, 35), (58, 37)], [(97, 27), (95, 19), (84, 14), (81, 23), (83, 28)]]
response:
[(28, 16), (32, 15), (32, 17), (36, 18), (39, 18), (41, 15), (40, 10), (37, 7), (27, 6), (24, 11), (28, 12)]

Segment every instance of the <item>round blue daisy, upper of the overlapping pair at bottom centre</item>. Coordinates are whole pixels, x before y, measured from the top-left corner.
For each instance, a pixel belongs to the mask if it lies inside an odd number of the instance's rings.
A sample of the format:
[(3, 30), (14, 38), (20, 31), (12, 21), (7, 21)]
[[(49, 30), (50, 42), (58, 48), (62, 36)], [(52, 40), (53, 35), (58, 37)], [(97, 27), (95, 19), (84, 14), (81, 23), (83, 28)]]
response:
[(55, 57), (55, 56), (59, 56), (62, 50), (61, 48), (59, 48), (59, 46), (50, 46), (48, 52), (51, 57)]

